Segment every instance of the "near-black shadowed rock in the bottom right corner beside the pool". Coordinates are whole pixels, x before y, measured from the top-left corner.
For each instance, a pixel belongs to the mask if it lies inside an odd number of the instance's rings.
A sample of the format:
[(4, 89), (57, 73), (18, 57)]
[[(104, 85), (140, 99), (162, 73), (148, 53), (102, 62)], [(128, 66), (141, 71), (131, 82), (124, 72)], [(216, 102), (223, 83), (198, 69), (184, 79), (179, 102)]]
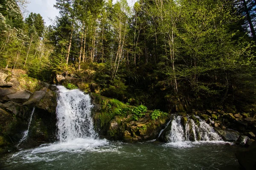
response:
[(256, 141), (246, 151), (237, 152), (235, 155), (245, 170), (256, 170)]

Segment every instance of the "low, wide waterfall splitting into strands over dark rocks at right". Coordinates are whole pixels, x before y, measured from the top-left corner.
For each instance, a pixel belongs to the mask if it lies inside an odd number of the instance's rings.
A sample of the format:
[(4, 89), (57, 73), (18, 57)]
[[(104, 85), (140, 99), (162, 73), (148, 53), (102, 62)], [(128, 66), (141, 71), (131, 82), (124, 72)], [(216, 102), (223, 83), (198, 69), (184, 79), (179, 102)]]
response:
[[(171, 131), (168, 135), (170, 143), (189, 142), (189, 141), (221, 141), (221, 137), (215, 133), (213, 127), (204, 120), (195, 116), (197, 121), (187, 119), (181, 121), (182, 116), (175, 116), (172, 120)], [(182, 123), (183, 122), (183, 123)]]

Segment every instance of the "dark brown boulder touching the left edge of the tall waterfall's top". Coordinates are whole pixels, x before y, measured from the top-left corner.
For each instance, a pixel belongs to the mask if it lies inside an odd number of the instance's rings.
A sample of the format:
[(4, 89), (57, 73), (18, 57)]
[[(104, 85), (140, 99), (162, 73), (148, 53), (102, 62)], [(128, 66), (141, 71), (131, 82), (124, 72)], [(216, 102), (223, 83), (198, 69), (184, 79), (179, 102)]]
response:
[(49, 113), (55, 113), (57, 107), (57, 96), (55, 92), (47, 91), (44, 97), (35, 106)]

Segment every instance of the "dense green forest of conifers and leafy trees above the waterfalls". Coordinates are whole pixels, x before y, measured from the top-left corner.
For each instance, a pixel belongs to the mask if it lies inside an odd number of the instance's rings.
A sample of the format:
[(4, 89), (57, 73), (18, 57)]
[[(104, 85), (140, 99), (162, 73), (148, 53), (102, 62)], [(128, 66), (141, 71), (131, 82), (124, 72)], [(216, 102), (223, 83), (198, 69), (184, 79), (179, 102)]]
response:
[(50, 26), (23, 18), (26, 3), (0, 0), (2, 69), (51, 84), (71, 75), (84, 91), (151, 110), (255, 116), (256, 0), (56, 0)]

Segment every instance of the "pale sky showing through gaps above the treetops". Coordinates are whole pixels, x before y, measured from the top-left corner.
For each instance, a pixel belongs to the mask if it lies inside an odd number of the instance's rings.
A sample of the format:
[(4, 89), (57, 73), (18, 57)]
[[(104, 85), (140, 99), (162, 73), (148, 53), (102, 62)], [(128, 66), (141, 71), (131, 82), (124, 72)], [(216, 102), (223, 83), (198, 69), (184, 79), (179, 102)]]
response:
[[(130, 6), (133, 6), (137, 0), (127, 0)], [(55, 0), (29, 0), (29, 4), (27, 4), (27, 11), (23, 14), (26, 18), (30, 12), (41, 14), (44, 19), (45, 25), (51, 25), (51, 19), (54, 20), (55, 16), (58, 15), (58, 10), (53, 7), (56, 3)], [(116, 0), (113, 0), (115, 3)]]

